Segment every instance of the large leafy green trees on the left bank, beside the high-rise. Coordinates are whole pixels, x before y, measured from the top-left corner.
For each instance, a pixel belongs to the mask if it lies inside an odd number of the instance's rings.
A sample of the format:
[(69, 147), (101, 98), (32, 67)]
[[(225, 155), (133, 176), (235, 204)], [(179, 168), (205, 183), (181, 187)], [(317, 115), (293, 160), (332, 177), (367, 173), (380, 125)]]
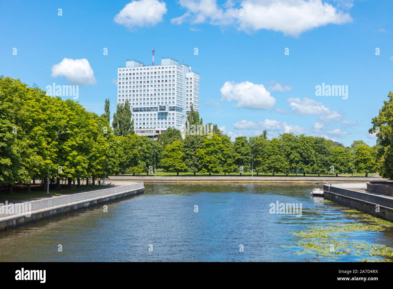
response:
[(71, 182), (118, 171), (119, 144), (108, 118), (78, 102), (0, 76), (0, 185)]

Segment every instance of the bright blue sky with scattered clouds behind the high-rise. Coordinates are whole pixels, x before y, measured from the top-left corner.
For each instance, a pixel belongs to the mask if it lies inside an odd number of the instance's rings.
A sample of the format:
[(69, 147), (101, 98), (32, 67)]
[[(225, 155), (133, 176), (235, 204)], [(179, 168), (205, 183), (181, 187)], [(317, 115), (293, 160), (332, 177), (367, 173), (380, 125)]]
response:
[[(102, 114), (110, 98), (113, 116), (117, 67), (151, 64), (154, 48), (155, 63), (184, 57), (200, 74), (200, 116), (233, 138), (266, 129), (374, 145), (370, 121), (393, 84), (392, 8), (390, 0), (1, 1), (0, 74), (45, 90), (79, 85), (86, 109)], [(347, 86), (347, 98), (316, 96), (322, 83)]]

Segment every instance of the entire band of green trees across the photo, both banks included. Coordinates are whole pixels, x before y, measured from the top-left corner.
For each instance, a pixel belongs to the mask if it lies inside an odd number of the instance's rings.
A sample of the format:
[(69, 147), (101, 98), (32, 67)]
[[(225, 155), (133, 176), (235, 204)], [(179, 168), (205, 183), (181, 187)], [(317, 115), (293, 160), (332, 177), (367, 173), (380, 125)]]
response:
[[(19, 79), (0, 76), (0, 185), (12, 186), (46, 179), (60, 181), (108, 177), (113, 174), (190, 173), (368, 173), (393, 176), (393, 95), (389, 93), (370, 133), (378, 136), (369, 147), (356, 141), (351, 147), (334, 146), (325, 138), (280, 134), (237, 137), (234, 142), (217, 125), (213, 134), (186, 135), (168, 128), (157, 140), (134, 134), (129, 103), (118, 105), (110, 127), (109, 99), (98, 116), (78, 102), (46, 95)], [(202, 125), (191, 108), (190, 125)]]

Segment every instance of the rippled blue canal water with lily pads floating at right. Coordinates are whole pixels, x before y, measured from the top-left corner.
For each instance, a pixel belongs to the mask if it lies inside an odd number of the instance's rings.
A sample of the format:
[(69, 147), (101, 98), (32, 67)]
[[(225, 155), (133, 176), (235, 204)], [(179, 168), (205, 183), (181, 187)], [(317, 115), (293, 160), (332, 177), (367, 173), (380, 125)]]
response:
[(107, 212), (1, 232), (0, 261), (393, 261), (393, 223), (311, 197), (312, 188), (145, 183)]

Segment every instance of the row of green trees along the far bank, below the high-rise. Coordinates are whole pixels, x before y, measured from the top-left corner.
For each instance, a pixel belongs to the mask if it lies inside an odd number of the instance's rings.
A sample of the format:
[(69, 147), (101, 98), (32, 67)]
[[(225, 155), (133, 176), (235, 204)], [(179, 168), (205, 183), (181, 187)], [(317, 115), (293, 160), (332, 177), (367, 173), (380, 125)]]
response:
[[(127, 105), (127, 104), (126, 104)], [(118, 114), (123, 108), (118, 106)], [(130, 120), (128, 120), (130, 123)], [(189, 125), (202, 125), (202, 118), (191, 107), (187, 116)], [(114, 129), (116, 131), (116, 126)], [(168, 128), (157, 141), (145, 136), (124, 133), (117, 140), (121, 143), (118, 173), (154, 173), (153, 168), (180, 173), (306, 173), (336, 174), (375, 172), (377, 146), (369, 147), (362, 140), (351, 147), (335, 146), (321, 137), (281, 134), (268, 140), (266, 131), (261, 136), (240, 136), (231, 142), (226, 134), (213, 125), (213, 134), (186, 135)]]

